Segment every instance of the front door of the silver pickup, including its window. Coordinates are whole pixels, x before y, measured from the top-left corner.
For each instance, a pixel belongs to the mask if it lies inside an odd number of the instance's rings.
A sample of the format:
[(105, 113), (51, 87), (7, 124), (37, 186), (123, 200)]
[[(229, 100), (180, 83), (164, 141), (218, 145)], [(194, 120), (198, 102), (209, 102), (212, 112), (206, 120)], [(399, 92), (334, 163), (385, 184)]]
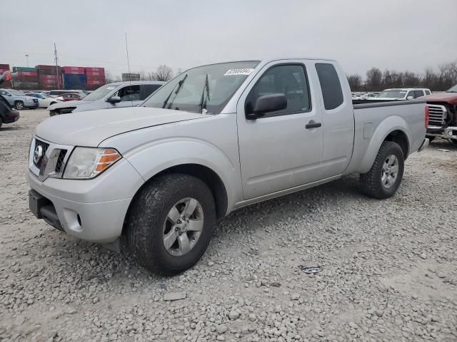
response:
[[(238, 145), (245, 199), (320, 179), (322, 113), (313, 103), (303, 61), (268, 63), (238, 100)], [(261, 95), (283, 93), (287, 108), (248, 120), (247, 105)]]

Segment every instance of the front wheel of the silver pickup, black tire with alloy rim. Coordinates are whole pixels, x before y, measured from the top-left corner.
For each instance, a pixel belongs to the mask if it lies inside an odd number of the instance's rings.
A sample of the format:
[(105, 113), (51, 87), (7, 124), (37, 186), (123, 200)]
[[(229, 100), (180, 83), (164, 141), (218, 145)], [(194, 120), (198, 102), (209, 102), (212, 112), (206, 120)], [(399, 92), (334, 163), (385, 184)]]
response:
[[(196, 222), (203, 217), (200, 232), (191, 231), (193, 229), (190, 228), (190, 223), (185, 228), (189, 228), (189, 231), (181, 232), (178, 227), (181, 221), (170, 219), (173, 208), (178, 210), (178, 214), (185, 212), (184, 208), (188, 204), (179, 204), (184, 199), (194, 199), (198, 203), (191, 215), (194, 218), (188, 217), (187, 222)], [(189, 207), (192, 206), (189, 204)], [(185, 220), (184, 218), (182, 222)], [(135, 196), (126, 222), (127, 244), (138, 263), (145, 269), (156, 274), (178, 274), (193, 266), (204, 254), (214, 233), (215, 222), (214, 197), (204, 182), (178, 173), (163, 175), (151, 181)], [(176, 236), (174, 244), (166, 246), (164, 237), (171, 234), (171, 242), (173, 232), (179, 235)], [(192, 235), (198, 233), (198, 237)], [(190, 244), (191, 247), (187, 247), (190, 250), (182, 254), (186, 245), (183, 242), (186, 241), (184, 235), (188, 237), (187, 246)]]

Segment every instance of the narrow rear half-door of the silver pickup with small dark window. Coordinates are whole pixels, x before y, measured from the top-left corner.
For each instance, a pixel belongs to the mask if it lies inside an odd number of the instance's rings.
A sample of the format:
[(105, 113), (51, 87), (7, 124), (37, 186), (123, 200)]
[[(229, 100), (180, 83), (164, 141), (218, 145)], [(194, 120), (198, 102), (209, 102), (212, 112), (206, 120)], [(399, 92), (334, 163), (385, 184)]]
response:
[[(323, 178), (341, 175), (352, 157), (354, 116), (346, 76), (331, 62), (316, 63), (323, 111)], [(343, 91), (344, 90), (344, 91)]]

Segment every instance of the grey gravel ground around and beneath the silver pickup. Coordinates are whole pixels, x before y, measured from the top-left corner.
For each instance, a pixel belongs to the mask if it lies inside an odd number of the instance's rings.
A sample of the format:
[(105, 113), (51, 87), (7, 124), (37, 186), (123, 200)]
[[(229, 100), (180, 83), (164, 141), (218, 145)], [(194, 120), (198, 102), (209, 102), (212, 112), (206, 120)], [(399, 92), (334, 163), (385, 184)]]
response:
[(32, 216), (26, 156), (47, 113), (21, 115), (0, 130), (0, 341), (457, 341), (448, 142), (411, 156), (391, 199), (351, 176), (240, 209), (164, 278)]

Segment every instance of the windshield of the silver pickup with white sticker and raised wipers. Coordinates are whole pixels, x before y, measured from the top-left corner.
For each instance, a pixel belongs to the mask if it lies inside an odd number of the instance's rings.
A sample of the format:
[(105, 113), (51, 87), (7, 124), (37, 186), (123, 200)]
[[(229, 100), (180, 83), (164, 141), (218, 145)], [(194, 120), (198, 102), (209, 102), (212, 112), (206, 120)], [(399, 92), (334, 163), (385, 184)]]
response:
[(258, 63), (243, 61), (189, 69), (157, 90), (141, 105), (219, 114)]

